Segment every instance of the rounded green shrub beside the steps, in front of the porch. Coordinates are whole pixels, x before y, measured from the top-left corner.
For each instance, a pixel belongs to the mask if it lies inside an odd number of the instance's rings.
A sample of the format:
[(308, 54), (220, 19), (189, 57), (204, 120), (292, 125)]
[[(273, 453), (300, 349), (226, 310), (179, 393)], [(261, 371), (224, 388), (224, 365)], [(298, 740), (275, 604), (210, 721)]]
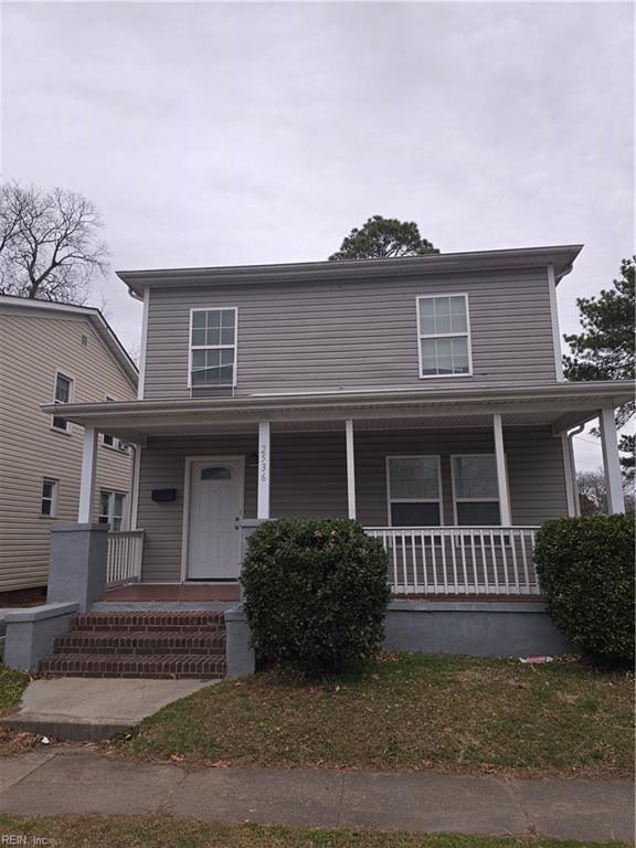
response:
[(382, 643), (386, 552), (356, 521), (264, 522), (248, 539), (241, 582), (262, 657), (329, 670)]

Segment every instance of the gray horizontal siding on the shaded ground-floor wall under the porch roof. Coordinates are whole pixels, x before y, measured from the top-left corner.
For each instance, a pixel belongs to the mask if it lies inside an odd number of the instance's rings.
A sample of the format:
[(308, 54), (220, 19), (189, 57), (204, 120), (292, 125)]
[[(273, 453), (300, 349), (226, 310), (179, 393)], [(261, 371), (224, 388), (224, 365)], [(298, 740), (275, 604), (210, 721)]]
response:
[[(142, 579), (179, 581), (187, 456), (247, 455), (256, 435), (210, 438), (155, 438), (141, 453), (139, 519), (146, 530)], [(566, 513), (561, 442), (548, 427), (505, 431), (512, 523), (540, 524)], [(437, 454), (442, 462), (444, 520), (453, 524), (451, 455), (494, 453), (490, 431), (374, 431), (356, 434), (358, 519), (386, 526), (385, 457)], [(173, 504), (153, 504), (153, 488), (178, 490)], [(272, 435), (272, 517), (346, 517), (344, 433)], [(256, 468), (245, 470), (244, 516), (256, 516)]]

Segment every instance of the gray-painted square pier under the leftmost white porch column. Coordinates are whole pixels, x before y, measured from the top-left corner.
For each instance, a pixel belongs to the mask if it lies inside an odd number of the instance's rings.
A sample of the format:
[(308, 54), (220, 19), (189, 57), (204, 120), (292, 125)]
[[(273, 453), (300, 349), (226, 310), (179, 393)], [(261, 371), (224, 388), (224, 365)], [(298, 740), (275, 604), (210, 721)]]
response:
[(76, 603), (80, 612), (106, 591), (108, 524), (59, 524), (51, 529), (49, 603)]

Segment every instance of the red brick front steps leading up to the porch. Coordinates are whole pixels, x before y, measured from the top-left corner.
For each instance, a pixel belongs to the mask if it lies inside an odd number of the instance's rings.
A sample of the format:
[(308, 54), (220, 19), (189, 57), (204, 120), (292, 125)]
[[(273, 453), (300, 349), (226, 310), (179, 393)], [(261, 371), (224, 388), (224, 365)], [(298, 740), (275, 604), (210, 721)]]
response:
[(216, 679), (225, 676), (218, 612), (87, 613), (55, 639), (44, 677)]

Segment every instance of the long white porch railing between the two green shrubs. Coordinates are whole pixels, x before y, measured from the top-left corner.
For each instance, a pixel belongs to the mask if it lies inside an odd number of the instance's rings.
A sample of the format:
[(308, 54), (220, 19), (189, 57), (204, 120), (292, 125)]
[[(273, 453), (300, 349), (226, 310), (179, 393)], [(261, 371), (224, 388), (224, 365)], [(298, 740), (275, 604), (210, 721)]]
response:
[(370, 527), (396, 595), (538, 595), (538, 527)]

